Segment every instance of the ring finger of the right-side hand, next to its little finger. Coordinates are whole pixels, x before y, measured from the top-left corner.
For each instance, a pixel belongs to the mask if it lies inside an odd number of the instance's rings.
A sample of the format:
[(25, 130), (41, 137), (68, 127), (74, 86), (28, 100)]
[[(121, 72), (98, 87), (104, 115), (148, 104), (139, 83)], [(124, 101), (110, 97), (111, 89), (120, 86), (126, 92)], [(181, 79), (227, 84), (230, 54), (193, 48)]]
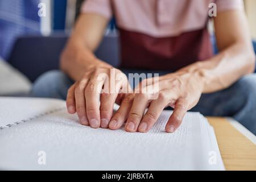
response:
[(139, 132), (147, 132), (151, 129), (152, 126), (154, 126), (155, 122), (157, 121), (160, 114), (164, 110), (164, 107), (166, 107), (166, 105), (168, 104), (167, 94), (168, 93), (166, 92), (160, 93), (158, 99), (150, 103), (150, 107), (148, 108), (141, 123), (139, 124)]

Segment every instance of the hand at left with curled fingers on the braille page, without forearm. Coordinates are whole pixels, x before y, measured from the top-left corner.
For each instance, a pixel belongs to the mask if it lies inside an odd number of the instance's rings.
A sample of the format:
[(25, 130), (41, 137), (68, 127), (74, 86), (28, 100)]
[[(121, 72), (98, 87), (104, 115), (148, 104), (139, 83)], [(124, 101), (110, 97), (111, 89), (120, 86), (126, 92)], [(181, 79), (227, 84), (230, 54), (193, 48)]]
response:
[(119, 104), (127, 90), (127, 77), (118, 69), (106, 65), (91, 68), (68, 90), (68, 112), (77, 112), (82, 125), (108, 128), (114, 103)]

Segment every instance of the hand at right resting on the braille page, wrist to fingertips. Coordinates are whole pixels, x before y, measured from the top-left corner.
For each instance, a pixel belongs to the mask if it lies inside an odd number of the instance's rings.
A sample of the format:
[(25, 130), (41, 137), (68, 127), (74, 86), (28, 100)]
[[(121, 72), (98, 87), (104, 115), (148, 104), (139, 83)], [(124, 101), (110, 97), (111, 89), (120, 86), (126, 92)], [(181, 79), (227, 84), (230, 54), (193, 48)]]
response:
[[(158, 90), (154, 100), (147, 92), (147, 88), (154, 88), (152, 78), (143, 80), (135, 89), (136, 92), (128, 94), (121, 106), (110, 121), (109, 128), (119, 129), (123, 123), (128, 132), (147, 132), (154, 126), (165, 107), (171, 106), (174, 111), (166, 124), (166, 131), (174, 133), (180, 126), (185, 113), (192, 109), (200, 99), (204, 88), (204, 81), (197, 73), (176, 72), (159, 77)], [(144, 111), (148, 107), (146, 114)]]

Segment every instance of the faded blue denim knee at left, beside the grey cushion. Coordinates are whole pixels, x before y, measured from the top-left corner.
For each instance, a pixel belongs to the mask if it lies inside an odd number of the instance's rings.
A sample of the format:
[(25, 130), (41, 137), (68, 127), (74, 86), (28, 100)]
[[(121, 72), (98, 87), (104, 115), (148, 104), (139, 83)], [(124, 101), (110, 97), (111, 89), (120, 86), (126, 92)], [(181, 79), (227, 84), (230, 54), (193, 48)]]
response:
[(32, 86), (32, 97), (59, 98), (65, 100), (73, 81), (61, 71), (49, 71), (40, 76)]

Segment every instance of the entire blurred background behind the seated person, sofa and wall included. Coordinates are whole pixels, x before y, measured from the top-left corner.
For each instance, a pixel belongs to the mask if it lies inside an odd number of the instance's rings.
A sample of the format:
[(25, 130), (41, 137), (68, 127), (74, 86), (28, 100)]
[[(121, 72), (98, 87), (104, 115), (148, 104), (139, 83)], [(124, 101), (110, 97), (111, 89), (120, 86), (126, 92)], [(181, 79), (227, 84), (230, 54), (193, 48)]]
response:
[[(38, 76), (59, 68), (60, 52), (82, 2), (84, 0), (0, 0), (0, 96), (26, 96)], [(254, 40), (256, 1), (244, 0), (244, 3)], [(96, 55), (117, 66), (118, 31), (114, 24), (113, 19)], [(212, 24), (209, 31), (212, 31), (213, 49), (217, 53)]]

